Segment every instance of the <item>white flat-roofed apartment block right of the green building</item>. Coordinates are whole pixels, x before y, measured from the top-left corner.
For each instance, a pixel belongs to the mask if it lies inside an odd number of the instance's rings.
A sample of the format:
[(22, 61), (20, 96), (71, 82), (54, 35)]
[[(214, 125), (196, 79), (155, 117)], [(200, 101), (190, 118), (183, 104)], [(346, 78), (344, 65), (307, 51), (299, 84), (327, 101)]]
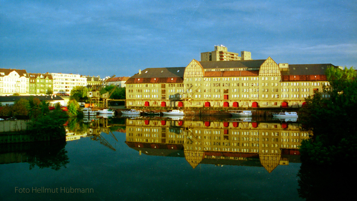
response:
[(87, 86), (87, 78), (79, 74), (51, 73), (53, 77), (53, 93), (59, 95), (70, 95), (76, 86)]

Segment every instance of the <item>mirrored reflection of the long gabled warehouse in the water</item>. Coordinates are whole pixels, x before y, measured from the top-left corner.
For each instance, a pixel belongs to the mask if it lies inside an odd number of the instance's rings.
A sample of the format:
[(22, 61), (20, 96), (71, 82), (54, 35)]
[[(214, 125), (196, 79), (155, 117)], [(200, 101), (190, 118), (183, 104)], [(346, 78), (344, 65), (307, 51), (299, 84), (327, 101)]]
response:
[[(239, 119), (241, 120), (241, 119)], [(297, 123), (127, 119), (126, 144), (147, 155), (185, 157), (200, 163), (263, 166), (300, 162), (298, 148), (308, 133)]]

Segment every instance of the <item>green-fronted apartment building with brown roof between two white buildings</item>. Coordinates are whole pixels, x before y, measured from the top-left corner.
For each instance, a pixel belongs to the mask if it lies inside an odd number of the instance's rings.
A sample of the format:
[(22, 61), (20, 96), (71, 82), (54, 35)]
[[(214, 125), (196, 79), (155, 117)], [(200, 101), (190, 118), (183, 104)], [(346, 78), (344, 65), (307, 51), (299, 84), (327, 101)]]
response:
[(29, 94), (46, 94), (49, 90), (53, 93), (53, 78), (51, 74), (28, 73)]

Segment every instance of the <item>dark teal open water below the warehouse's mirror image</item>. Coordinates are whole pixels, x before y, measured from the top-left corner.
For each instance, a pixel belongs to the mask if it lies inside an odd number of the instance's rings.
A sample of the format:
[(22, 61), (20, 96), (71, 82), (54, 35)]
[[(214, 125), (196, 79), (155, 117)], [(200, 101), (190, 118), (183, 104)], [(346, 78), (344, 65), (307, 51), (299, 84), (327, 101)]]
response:
[[(66, 142), (64, 149), (32, 153), (43, 161), (0, 164), (0, 200), (302, 200), (297, 191), (301, 163), (278, 165), (270, 173), (261, 165), (220, 165), (222, 161), (193, 168), (183, 150), (166, 154), (164, 149), (142, 149), (140, 155), (125, 143), (126, 133), (113, 134), (117, 141), (110, 134), (101, 135), (116, 151), (106, 142), (81, 137)], [(49, 160), (57, 166), (46, 164)], [(42, 187), (57, 190), (45, 193)], [(20, 193), (20, 188), (29, 193)], [(92, 192), (65, 192), (71, 188)]]

